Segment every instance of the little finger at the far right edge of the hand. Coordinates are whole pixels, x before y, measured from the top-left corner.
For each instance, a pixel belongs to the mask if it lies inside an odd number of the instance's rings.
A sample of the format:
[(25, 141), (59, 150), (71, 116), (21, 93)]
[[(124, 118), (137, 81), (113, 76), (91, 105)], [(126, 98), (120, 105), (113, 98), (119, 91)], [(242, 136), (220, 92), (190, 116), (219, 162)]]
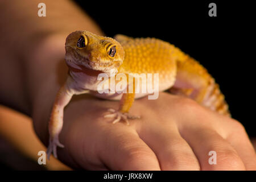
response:
[(228, 135), (226, 140), (234, 147), (237, 154), (241, 157), (245, 164), (246, 170), (256, 170), (256, 154), (248, 135), (241, 123), (233, 122), (229, 126), (232, 133)]

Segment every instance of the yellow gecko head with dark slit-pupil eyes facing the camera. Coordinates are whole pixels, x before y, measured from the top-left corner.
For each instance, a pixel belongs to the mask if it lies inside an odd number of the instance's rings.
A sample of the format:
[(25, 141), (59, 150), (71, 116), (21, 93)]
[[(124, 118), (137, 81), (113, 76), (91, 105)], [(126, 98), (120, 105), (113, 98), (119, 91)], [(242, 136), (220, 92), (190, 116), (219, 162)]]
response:
[(120, 43), (89, 31), (75, 31), (68, 35), (65, 43), (65, 60), (69, 67), (82, 67), (109, 73), (117, 72), (125, 52)]

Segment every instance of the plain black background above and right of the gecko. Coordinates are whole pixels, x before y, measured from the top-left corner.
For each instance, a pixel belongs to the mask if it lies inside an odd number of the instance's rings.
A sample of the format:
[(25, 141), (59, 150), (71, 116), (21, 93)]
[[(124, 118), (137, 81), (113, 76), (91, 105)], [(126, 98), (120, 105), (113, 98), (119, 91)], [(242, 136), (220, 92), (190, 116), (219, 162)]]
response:
[[(200, 61), (220, 85), (233, 118), (256, 136), (253, 5), (242, 1), (76, 1), (107, 36), (155, 37)], [(208, 15), (209, 3), (217, 17)], [(251, 43), (251, 44), (250, 44)]]

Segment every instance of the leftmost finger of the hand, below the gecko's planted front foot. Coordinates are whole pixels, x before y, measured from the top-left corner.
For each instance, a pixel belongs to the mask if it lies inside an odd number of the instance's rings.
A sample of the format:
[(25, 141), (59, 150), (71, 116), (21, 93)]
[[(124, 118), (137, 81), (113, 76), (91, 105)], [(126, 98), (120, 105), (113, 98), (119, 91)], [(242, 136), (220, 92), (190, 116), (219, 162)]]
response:
[[(118, 125), (118, 123), (116, 124)], [(134, 129), (125, 125), (108, 132), (98, 151), (99, 157), (113, 170), (160, 170), (154, 152), (139, 138)], [(102, 147), (104, 150), (102, 150)]]

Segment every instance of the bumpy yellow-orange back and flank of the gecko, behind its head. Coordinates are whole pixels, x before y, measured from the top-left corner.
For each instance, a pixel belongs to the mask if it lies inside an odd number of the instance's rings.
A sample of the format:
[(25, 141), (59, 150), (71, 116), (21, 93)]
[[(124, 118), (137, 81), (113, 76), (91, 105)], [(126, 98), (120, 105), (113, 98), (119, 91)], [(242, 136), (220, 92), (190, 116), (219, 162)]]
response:
[(155, 38), (125, 39), (123, 35), (117, 35), (115, 39), (120, 41), (125, 51), (125, 60), (118, 72), (159, 73), (159, 76), (176, 72), (176, 60), (171, 44)]

